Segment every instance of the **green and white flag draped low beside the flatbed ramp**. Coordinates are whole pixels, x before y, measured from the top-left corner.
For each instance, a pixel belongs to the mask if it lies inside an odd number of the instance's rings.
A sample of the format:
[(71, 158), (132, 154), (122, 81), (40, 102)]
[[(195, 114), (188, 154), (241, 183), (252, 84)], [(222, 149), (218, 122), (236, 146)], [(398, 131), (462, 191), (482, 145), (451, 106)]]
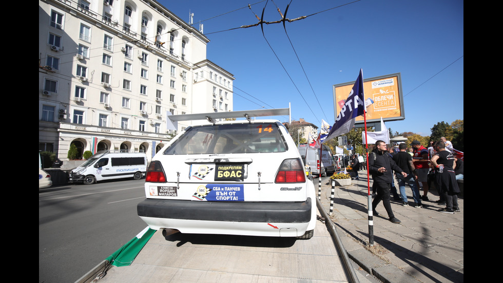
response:
[(130, 266), (134, 258), (136, 258), (155, 232), (156, 230), (152, 230), (148, 227), (143, 229), (142, 232), (132, 238), (129, 242), (122, 246), (122, 248), (107, 257), (106, 260), (111, 262), (112, 266)]

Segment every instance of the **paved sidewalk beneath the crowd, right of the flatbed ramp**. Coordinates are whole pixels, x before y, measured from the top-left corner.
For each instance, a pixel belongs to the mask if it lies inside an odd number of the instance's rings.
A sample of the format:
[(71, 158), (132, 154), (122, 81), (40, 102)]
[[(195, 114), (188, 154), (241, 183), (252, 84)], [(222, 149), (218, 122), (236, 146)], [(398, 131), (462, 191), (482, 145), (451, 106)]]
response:
[[(374, 216), (374, 245), (369, 244), (368, 197), (366, 171), (360, 171), (360, 181), (349, 186), (335, 186), (332, 220), (351, 259), (362, 269), (383, 282), (463, 282), (463, 197), (458, 198), (461, 212), (438, 212), (445, 206), (435, 203), (438, 192), (430, 190), (423, 208), (414, 207), (412, 191), (406, 186), (409, 206), (401, 201), (391, 205), (402, 221), (391, 223), (382, 202)], [(328, 178), (326, 179), (328, 180)], [(319, 179), (314, 179), (315, 187)], [(396, 182), (395, 182), (396, 184)], [(372, 178), (370, 179), (372, 186)], [(318, 190), (318, 189), (317, 189)], [(372, 188), (371, 188), (372, 190)], [(422, 195), (422, 190), (420, 191)], [(321, 202), (330, 212), (332, 185), (321, 185)]]

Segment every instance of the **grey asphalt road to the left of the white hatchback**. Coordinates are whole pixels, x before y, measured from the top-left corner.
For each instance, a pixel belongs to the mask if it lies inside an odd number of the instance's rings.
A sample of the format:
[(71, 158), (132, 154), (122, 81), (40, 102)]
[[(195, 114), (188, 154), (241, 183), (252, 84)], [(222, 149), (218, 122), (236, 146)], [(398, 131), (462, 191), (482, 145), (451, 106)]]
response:
[(145, 180), (38, 191), (38, 282), (74, 282), (140, 233)]

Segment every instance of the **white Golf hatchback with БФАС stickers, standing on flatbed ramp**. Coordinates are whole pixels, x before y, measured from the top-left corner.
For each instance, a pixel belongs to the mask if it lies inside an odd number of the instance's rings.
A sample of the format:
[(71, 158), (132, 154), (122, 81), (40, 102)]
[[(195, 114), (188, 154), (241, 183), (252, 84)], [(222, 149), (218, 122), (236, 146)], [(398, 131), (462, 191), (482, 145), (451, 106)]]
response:
[(277, 120), (187, 127), (153, 157), (145, 194), (138, 215), (154, 230), (309, 239), (316, 224), (314, 185)]

